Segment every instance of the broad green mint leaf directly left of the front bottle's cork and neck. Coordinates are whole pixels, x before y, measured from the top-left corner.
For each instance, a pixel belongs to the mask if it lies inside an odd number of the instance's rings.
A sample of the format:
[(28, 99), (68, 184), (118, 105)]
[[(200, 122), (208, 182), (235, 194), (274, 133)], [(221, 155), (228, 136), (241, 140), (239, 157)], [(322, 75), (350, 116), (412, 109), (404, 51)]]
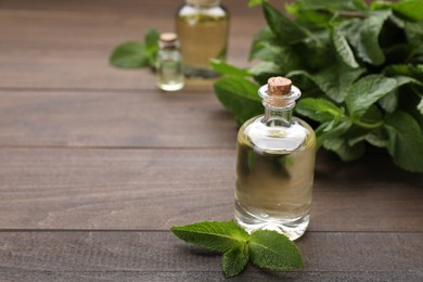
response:
[(258, 86), (242, 77), (222, 77), (214, 85), (215, 93), (238, 123), (243, 124), (262, 113)]

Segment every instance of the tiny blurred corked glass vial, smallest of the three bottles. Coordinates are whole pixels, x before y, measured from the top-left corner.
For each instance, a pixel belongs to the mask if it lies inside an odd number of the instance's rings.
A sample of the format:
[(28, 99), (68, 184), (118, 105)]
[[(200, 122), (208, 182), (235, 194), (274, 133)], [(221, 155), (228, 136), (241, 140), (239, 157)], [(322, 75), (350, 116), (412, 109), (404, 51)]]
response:
[(156, 62), (157, 88), (164, 91), (177, 91), (183, 88), (182, 56), (176, 34), (162, 34), (158, 41)]

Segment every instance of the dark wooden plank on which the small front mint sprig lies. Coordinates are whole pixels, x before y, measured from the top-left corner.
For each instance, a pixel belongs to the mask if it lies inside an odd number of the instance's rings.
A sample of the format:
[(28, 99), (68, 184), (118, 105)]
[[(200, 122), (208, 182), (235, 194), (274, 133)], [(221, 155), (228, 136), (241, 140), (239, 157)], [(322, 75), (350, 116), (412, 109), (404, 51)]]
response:
[[(2, 278), (223, 279), (219, 255), (169, 232), (1, 232), (0, 242)], [(423, 275), (422, 233), (310, 232), (297, 245), (304, 270), (278, 273), (248, 266), (236, 280), (419, 281)]]

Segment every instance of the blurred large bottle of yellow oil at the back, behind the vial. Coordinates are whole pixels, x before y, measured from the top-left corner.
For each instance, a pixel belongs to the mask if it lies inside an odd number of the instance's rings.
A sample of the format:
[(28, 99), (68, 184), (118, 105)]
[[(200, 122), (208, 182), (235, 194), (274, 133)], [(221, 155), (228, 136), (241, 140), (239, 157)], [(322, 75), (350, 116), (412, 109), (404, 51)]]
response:
[(225, 60), (229, 14), (220, 0), (185, 0), (176, 17), (187, 77), (216, 77), (210, 59)]

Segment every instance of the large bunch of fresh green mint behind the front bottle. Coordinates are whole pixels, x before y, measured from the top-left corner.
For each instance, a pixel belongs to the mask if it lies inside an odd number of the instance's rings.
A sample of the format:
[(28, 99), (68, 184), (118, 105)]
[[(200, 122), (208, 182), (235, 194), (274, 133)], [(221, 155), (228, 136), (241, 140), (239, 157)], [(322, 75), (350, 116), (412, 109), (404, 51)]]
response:
[(315, 120), (318, 145), (343, 161), (369, 146), (423, 172), (423, 1), (296, 0), (286, 13), (265, 0), (267, 25), (238, 68), (213, 61), (215, 92), (239, 124), (262, 112), (257, 89), (285, 76), (302, 89), (296, 111)]

